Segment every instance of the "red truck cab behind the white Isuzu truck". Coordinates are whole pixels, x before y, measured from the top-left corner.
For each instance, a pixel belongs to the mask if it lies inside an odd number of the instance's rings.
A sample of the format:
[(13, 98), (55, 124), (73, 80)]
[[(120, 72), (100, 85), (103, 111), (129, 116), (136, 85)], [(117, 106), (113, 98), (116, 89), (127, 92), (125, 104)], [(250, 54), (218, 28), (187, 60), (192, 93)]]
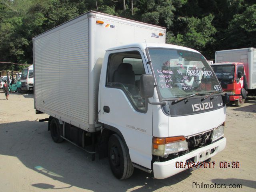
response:
[(240, 94), (242, 88), (245, 87), (245, 66), (240, 62), (221, 62), (211, 64), (214, 73), (216, 74), (224, 93), (230, 95), (230, 101), (236, 106), (242, 106), (244, 100), (242, 96), (233, 96)]

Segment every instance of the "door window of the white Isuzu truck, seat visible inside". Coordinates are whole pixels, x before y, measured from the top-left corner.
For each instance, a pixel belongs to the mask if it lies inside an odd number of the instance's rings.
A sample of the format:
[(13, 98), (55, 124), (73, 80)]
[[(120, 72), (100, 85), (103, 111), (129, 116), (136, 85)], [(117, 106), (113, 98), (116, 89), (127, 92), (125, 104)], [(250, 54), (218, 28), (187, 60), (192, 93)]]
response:
[(110, 55), (106, 86), (123, 90), (135, 110), (146, 112), (146, 101), (140, 94), (142, 74), (145, 69), (138, 51)]

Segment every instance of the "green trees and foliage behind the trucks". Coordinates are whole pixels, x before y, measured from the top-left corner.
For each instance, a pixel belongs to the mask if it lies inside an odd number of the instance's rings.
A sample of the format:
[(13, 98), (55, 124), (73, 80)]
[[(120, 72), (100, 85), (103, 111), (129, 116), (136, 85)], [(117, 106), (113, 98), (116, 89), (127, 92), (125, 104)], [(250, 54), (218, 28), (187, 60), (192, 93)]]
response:
[[(34, 36), (89, 10), (164, 26), (167, 43), (208, 59), (216, 50), (256, 43), (255, 0), (2, 0), (0, 61), (32, 64)], [(0, 64), (0, 70), (22, 67)]]

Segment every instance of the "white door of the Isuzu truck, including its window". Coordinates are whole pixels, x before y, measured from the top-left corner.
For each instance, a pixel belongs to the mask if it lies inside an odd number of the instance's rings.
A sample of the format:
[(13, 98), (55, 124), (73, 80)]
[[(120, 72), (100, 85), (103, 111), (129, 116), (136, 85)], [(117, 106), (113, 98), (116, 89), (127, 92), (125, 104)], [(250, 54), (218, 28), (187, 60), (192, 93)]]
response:
[(151, 168), (152, 105), (140, 95), (140, 76), (148, 74), (140, 49), (107, 52), (99, 89), (99, 121), (122, 134), (132, 162)]

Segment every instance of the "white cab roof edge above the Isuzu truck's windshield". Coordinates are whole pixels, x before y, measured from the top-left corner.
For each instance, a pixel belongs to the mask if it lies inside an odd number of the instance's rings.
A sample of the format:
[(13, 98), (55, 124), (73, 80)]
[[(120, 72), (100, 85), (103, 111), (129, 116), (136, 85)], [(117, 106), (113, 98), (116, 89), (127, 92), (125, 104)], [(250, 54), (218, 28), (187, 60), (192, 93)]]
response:
[(145, 50), (146, 47), (149, 47), (149, 48), (150, 47), (154, 47), (154, 48), (171, 48), (171, 49), (186, 50), (186, 51), (192, 51), (192, 52), (200, 53), (197, 50), (194, 50), (194, 49), (191, 49), (191, 48), (187, 48), (187, 47), (183, 47), (183, 46), (166, 44), (166, 43), (147, 43), (146, 44), (145, 42), (117, 46), (117, 47), (114, 47), (114, 48), (109, 48), (106, 51), (113, 51), (113, 50), (125, 49), (125, 48), (131, 48), (131, 47), (137, 47), (137, 48), (140, 48), (141, 50)]

